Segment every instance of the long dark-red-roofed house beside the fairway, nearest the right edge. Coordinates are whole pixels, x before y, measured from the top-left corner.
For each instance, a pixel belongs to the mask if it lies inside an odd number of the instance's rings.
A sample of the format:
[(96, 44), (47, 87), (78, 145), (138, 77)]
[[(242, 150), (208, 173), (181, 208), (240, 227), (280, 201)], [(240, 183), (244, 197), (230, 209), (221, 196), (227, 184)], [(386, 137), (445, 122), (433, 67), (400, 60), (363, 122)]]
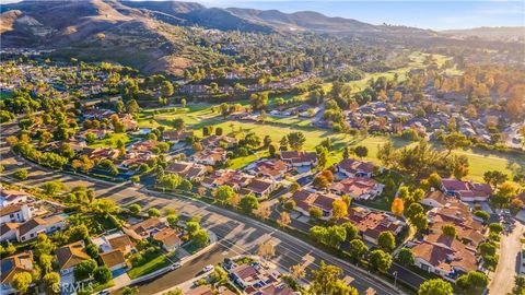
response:
[(444, 178), (441, 186), (446, 194), (455, 196), (464, 202), (485, 202), (492, 196), (492, 188), (487, 184)]

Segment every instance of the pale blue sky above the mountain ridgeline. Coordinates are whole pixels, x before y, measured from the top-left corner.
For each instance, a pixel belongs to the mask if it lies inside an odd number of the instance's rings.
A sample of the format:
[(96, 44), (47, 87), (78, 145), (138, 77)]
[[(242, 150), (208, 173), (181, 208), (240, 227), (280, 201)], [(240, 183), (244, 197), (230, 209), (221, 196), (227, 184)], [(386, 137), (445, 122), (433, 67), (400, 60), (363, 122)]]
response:
[(525, 1), (284, 1), (205, 0), (207, 7), (312, 10), (372, 24), (395, 24), (448, 30), (479, 26), (525, 26)]

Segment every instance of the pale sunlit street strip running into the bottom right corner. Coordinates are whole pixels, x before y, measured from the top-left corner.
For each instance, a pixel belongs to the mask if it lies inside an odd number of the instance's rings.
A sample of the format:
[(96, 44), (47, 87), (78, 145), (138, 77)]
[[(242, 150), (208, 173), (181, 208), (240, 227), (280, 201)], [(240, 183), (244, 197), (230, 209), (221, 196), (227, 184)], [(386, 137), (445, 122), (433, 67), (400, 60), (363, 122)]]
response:
[(500, 243), (500, 261), (494, 273), (491, 273), (489, 294), (509, 294), (514, 287), (514, 275), (520, 270), (520, 251), (522, 250), (521, 238), (525, 232), (524, 225), (514, 221), (511, 233), (503, 233)]

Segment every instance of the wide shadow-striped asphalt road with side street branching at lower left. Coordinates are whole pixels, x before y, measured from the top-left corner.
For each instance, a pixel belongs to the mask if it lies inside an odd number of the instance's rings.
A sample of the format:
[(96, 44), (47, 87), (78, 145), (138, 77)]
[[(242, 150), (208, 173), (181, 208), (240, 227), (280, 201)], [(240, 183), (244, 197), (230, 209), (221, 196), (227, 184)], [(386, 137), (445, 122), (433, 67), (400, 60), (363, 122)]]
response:
[(14, 180), (14, 182), (37, 187), (45, 181), (61, 180), (68, 188), (86, 186), (95, 189), (97, 197), (113, 199), (122, 206), (138, 203), (143, 210), (152, 206), (158, 209), (172, 208), (178, 213), (187, 212), (192, 215), (199, 215), (202, 217), (203, 226), (217, 234), (219, 238), (218, 245), (210, 251), (197, 257), (192, 261), (188, 261), (178, 270), (140, 285), (141, 294), (162, 292), (197, 275), (203, 266), (220, 262), (225, 257), (256, 253), (258, 245), (268, 240), (276, 246), (276, 257), (271, 259), (271, 262), (276, 263), (282, 271), (301, 263), (310, 272), (317, 269), (320, 261), (324, 260), (326, 263), (340, 267), (345, 271), (345, 275), (351, 278), (351, 285), (357, 287), (360, 293), (365, 293), (369, 288), (373, 288), (376, 294), (399, 294), (392, 285), (383, 283), (381, 279), (318, 250), (293, 236), (244, 215), (197, 201), (172, 198), (156, 192), (144, 193), (139, 191), (139, 187), (129, 182), (115, 185), (81, 175), (48, 170), (21, 158), (16, 161), (3, 142), (3, 139), (15, 130), (16, 127), (2, 127), (2, 142), (0, 142), (1, 164), (4, 166), (4, 172), (1, 176), (2, 180), (13, 182), (14, 179), (10, 175), (15, 169), (22, 167), (16, 165), (19, 162), (23, 163), (24, 167), (30, 168), (30, 176), (23, 181)]

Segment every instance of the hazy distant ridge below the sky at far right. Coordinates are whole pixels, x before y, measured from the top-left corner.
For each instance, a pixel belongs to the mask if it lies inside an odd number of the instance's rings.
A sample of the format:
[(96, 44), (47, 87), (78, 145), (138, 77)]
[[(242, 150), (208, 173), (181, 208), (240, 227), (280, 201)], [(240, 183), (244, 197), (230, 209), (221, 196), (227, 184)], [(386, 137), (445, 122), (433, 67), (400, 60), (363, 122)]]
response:
[(441, 32), (458, 38), (481, 38), (488, 40), (523, 42), (525, 26), (475, 27), (468, 30), (447, 30)]

